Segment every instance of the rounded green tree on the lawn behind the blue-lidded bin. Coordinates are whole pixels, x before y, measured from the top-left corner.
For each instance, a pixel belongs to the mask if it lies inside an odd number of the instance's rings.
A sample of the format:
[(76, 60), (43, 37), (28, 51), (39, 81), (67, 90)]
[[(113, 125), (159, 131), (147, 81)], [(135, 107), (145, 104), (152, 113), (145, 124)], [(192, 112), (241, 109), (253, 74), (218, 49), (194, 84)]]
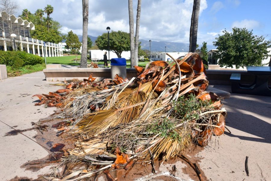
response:
[[(118, 58), (121, 58), (121, 53), (123, 51), (130, 50), (130, 34), (123, 31), (112, 31), (109, 33), (109, 47), (110, 50), (117, 54)], [(107, 50), (107, 33), (103, 33), (101, 36), (98, 36), (96, 45), (100, 50)]]

